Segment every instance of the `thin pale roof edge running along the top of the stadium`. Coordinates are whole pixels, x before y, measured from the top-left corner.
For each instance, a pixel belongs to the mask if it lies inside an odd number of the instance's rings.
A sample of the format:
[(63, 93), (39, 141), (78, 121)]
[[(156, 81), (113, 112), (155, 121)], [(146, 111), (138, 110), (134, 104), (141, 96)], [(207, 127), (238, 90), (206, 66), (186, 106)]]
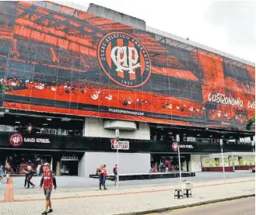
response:
[[(49, 2), (53, 2), (53, 3), (56, 3), (58, 5), (65, 5), (65, 6), (68, 6), (70, 8), (77, 9), (77, 10), (83, 11), (83, 12), (88, 12), (88, 9), (89, 9), (89, 7), (87, 7), (87, 6), (83, 6), (83, 5), (79, 5), (79, 4), (76, 4), (76, 3), (73, 3), (73, 2), (68, 2), (68, 1), (63, 1), (63, 0), (62, 1), (49, 1)], [(96, 14), (96, 16), (100, 16), (100, 14)], [(100, 16), (100, 17), (105, 18), (105, 19), (109, 19), (109, 18), (104, 17), (104, 16)], [(116, 21), (116, 20), (114, 20), (114, 21)], [(127, 23), (122, 23), (122, 24), (127, 25)], [(137, 29), (139, 29), (139, 28), (137, 27)], [(140, 30), (145, 30), (145, 29), (140, 29)], [(207, 47), (207, 46), (202, 45), (200, 43), (195, 43), (191, 40), (186, 40), (186, 39), (182, 38), (181, 36), (176, 36), (174, 34), (167, 33), (167, 32), (164, 32), (164, 31), (161, 31), (159, 29), (155, 29), (155, 28), (152, 28), (152, 27), (149, 27), (149, 26), (146, 26), (146, 31), (149, 32), (149, 33), (155, 33), (158, 36), (160, 36), (159, 37), (160, 41), (163, 41), (163, 39), (166, 38), (165, 43), (167, 43), (171, 46), (174, 46), (174, 47), (179, 47), (179, 48), (184, 49), (184, 50), (189, 50), (189, 51), (194, 51), (194, 52), (197, 52), (197, 53), (202, 53), (202, 54), (205, 54), (205, 55), (209, 55), (209, 57), (214, 57), (214, 58), (223, 57), (224, 61), (226, 61), (226, 63), (234, 64), (238, 67), (243, 67), (244, 64), (255, 67), (255, 64), (251, 61), (247, 61), (247, 60), (244, 60), (240, 57), (233, 56), (232, 54), (227, 54), (223, 51), (216, 50), (216, 49), (211, 48), (211, 47)]]

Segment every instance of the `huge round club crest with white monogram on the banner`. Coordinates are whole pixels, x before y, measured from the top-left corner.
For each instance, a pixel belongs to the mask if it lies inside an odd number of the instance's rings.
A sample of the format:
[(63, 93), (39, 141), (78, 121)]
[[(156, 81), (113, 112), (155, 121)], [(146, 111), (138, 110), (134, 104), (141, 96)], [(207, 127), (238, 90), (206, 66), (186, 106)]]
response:
[(151, 61), (145, 47), (128, 33), (108, 33), (98, 46), (100, 66), (118, 85), (133, 88), (144, 85), (151, 74)]

